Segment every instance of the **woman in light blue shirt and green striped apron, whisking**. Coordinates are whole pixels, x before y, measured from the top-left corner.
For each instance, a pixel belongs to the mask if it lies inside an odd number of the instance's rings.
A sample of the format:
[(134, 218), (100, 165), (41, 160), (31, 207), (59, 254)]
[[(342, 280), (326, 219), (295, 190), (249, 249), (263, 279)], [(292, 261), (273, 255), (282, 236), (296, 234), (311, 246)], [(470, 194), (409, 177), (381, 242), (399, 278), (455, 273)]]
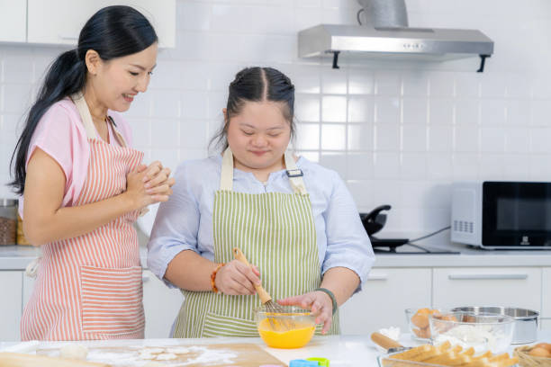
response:
[[(312, 309), (319, 332), (339, 333), (338, 307), (375, 257), (339, 175), (286, 151), (294, 85), (248, 67), (222, 111), (221, 154), (178, 166), (149, 240), (149, 269), (185, 294), (173, 336), (258, 336), (260, 273), (274, 300)], [(255, 266), (234, 260), (233, 247)]]

